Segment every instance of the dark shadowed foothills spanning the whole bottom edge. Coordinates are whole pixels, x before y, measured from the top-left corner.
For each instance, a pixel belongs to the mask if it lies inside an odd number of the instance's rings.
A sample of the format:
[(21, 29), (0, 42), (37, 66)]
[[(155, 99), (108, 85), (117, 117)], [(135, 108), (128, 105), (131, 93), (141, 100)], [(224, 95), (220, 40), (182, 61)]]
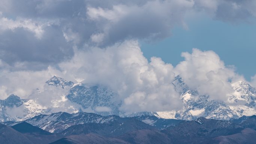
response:
[[(59, 116), (61, 117), (55, 118), (66, 120), (72, 114), (59, 113)], [(95, 120), (95, 117), (99, 118), (99, 115), (91, 115), (90, 119)], [(152, 116), (110, 117), (115, 119), (103, 123), (74, 124), (58, 134), (49, 133), (26, 122), (18, 123), (12, 128), (1, 124), (0, 142), (6, 144), (255, 144), (256, 141), (256, 116), (244, 116), (229, 121), (199, 117), (196, 120), (179, 122), (155, 119)], [(77, 120), (74, 118), (81, 120), (80, 117), (72, 118)], [(45, 117), (40, 116), (34, 122), (40, 122), (42, 119), (43, 122), (47, 121)]]

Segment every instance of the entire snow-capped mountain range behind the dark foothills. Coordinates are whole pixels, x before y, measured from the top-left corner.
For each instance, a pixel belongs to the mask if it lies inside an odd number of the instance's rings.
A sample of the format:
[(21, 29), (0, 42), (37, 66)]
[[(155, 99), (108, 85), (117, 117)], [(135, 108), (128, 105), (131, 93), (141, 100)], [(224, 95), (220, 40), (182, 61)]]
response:
[(67, 113), (88, 112), (103, 116), (121, 117), (156, 116), (164, 119), (193, 120), (197, 117), (229, 120), (243, 115), (256, 114), (256, 90), (248, 83), (239, 81), (232, 84), (234, 94), (227, 102), (210, 100), (207, 95), (199, 95), (190, 90), (184, 80), (176, 76), (173, 85), (180, 93), (183, 108), (178, 111), (157, 111), (124, 113), (119, 110), (122, 101), (117, 101), (118, 94), (102, 85), (88, 85), (86, 82), (73, 83), (61, 77), (53, 76), (46, 81), (45, 89), (36, 89), (27, 99), (10, 95), (0, 101), (0, 121), (22, 121), (40, 114), (59, 111)]

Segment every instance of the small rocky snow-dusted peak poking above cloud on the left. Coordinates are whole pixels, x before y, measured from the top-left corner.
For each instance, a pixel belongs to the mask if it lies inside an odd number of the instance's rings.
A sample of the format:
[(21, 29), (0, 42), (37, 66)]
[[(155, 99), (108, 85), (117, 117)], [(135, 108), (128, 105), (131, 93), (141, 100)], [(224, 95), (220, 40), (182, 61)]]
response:
[(45, 83), (47, 83), (48, 85), (52, 85), (52, 86), (61, 86), (61, 88), (65, 88), (65, 86), (73, 86), (74, 83), (71, 81), (67, 81), (61, 77), (58, 77), (56, 75), (54, 75), (53, 77), (51, 77), (51, 79), (49, 79), (48, 81), (46, 81)]

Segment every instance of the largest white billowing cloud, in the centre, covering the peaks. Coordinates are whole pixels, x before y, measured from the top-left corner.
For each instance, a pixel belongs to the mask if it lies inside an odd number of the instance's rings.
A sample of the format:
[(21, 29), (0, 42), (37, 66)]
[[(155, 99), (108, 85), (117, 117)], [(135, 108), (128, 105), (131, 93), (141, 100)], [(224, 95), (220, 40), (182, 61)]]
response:
[(109, 86), (124, 101), (125, 111), (172, 110), (182, 104), (171, 84), (173, 66), (155, 57), (148, 62), (136, 40), (106, 49), (77, 50), (70, 61), (59, 67), (73, 79)]

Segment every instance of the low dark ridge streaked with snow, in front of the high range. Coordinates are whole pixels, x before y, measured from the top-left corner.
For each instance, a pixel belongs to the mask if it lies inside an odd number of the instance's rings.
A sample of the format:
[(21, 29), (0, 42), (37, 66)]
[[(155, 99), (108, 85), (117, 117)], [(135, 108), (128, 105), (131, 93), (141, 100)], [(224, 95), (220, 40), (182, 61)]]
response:
[[(33, 126), (39, 127), (51, 133), (59, 133), (70, 126), (85, 124), (85, 123), (108, 123), (117, 121), (119, 123), (126, 122), (127, 120), (136, 119), (140, 120), (150, 126), (155, 126), (158, 129), (164, 129), (168, 126), (175, 126), (183, 120), (176, 119), (159, 119), (156, 116), (140, 116), (140, 117), (119, 117), (116, 115), (101, 116), (95, 113), (75, 113), (69, 114), (65, 112), (52, 113), (49, 115), (40, 114), (25, 120), (24, 122), (30, 123)], [(5, 122), (5, 125), (13, 126), (21, 122)]]

